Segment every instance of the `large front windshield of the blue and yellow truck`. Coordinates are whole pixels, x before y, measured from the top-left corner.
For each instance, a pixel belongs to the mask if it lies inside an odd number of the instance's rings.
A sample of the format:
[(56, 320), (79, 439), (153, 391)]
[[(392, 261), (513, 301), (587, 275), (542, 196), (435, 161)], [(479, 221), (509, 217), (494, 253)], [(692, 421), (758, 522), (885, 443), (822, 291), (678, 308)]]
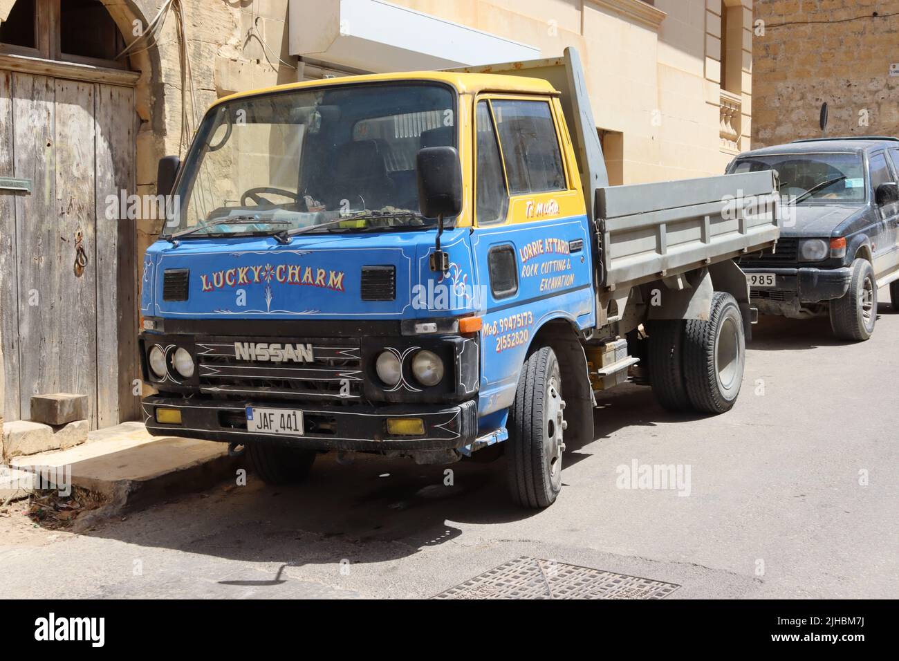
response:
[(455, 94), (437, 84), (343, 85), (223, 103), (200, 125), (164, 235), (430, 227), (436, 221), (419, 212), (415, 156), (456, 147), (455, 124)]

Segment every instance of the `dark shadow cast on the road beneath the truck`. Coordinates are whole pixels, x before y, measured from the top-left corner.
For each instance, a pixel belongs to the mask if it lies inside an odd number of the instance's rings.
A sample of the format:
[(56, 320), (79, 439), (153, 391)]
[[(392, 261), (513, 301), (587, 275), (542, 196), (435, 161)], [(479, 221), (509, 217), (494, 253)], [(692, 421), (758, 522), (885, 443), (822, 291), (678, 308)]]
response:
[[(590, 459), (623, 426), (653, 427), (658, 422), (691, 419), (664, 412), (648, 388), (625, 385), (619, 390), (599, 398), (595, 440), (568, 444), (567, 468)], [(383, 562), (448, 542), (476, 547), (480, 541), (476, 533), (467, 531), (463, 537), (454, 523), (503, 526), (551, 516), (551, 509), (525, 510), (512, 503), (506, 469), (504, 458), (416, 466), (411, 460), (363, 455), (352, 465), (341, 466), (334, 455), (323, 455), (303, 484), (272, 487), (251, 472), (246, 486), (227, 483), (205, 493), (179, 496), (129, 513), (125, 520), (98, 524), (86, 534), (287, 567), (343, 559)], [(257, 583), (278, 585), (281, 581), (273, 576), (271, 581)]]

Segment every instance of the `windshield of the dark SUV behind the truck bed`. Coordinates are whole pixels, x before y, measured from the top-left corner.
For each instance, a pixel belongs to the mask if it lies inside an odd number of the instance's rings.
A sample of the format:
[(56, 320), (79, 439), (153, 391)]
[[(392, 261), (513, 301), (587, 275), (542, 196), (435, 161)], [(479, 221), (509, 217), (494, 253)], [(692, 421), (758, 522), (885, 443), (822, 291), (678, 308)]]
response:
[(799, 204), (865, 201), (865, 167), (860, 154), (777, 154), (741, 158), (734, 173), (774, 170), (780, 194)]

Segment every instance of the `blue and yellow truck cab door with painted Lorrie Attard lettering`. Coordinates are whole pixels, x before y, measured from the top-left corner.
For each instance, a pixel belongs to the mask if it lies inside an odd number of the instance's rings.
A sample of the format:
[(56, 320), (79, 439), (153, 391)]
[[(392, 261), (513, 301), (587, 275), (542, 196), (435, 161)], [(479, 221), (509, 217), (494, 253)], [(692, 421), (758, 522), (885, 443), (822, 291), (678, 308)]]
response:
[[(476, 100), (475, 253), (484, 330), (481, 415), (512, 404), (548, 319), (594, 322), (586, 208), (561, 108), (546, 97)], [(563, 148), (565, 145), (565, 148)]]

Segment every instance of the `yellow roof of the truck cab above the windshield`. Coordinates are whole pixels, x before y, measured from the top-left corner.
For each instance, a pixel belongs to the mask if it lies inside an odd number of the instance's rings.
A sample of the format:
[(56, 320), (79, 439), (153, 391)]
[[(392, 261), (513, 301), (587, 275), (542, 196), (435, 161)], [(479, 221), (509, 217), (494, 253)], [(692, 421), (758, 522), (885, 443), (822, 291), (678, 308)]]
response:
[(286, 90), (314, 89), (316, 87), (351, 85), (354, 83), (377, 83), (405, 80), (432, 80), (439, 83), (447, 83), (455, 87), (460, 94), (476, 94), (482, 90), (492, 92), (521, 92), (524, 94), (556, 94), (552, 85), (542, 78), (528, 78), (524, 76), (503, 76), (502, 74), (463, 74), (451, 71), (406, 71), (390, 74), (367, 74), (365, 76), (343, 76), (340, 78), (325, 78), (323, 80), (307, 80), (304, 83), (288, 83), (287, 85), (275, 85), (264, 87), (249, 92), (239, 92), (219, 99), (212, 104), (215, 107), (219, 103), (225, 103), (232, 99), (270, 94), (271, 92), (284, 92)]

